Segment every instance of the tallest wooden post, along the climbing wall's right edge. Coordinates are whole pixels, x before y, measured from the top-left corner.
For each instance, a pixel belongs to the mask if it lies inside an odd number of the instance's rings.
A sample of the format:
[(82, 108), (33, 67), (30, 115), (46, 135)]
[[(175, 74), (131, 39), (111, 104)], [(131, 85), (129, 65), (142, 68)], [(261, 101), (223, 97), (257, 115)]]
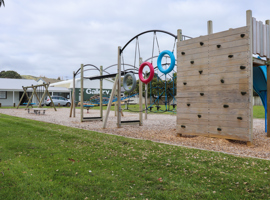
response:
[(249, 139), (247, 145), (251, 145), (253, 141), (253, 60), (252, 60), (252, 11), (247, 10), (246, 12), (246, 21), (247, 27), (249, 32), (249, 51), (248, 51), (248, 58), (249, 58), (249, 67), (250, 67), (250, 78), (249, 78)]

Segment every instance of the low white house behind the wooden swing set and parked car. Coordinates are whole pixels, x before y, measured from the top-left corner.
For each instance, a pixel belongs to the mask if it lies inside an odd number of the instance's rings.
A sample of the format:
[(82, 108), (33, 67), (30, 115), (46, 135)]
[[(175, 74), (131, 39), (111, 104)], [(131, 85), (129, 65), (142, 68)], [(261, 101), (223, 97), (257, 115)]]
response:
[[(35, 80), (28, 79), (10, 79), (10, 78), (0, 78), (0, 103), (1, 106), (13, 106), (18, 105), (20, 99), (24, 93), (23, 86), (32, 86), (38, 85), (38, 82)], [(44, 87), (37, 88), (37, 95), (41, 99), (44, 93)], [(71, 91), (68, 88), (64, 87), (49, 87), (48, 91), (50, 95), (59, 95), (69, 98), (71, 96)], [(33, 90), (31, 88), (27, 89), (27, 94), (30, 97)], [(28, 102), (27, 97), (25, 96), (22, 103)], [(34, 95), (32, 103), (38, 103), (36, 96)]]

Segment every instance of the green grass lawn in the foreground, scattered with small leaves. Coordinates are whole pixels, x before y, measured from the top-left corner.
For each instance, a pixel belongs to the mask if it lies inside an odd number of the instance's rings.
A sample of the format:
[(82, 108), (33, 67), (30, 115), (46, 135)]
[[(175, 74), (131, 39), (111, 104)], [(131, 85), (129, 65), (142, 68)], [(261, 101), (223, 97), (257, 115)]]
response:
[(270, 161), (3, 114), (0, 127), (0, 199), (270, 198)]

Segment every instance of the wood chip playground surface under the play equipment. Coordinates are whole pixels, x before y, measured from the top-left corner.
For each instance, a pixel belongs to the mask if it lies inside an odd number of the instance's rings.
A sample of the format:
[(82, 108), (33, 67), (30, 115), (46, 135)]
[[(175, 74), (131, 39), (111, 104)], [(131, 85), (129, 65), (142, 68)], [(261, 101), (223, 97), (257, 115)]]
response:
[[(26, 110), (22, 109), (0, 109), (0, 113), (2, 114), (74, 128), (270, 160), (270, 138), (267, 138), (264, 132), (264, 119), (254, 119), (253, 146), (247, 146), (245, 142), (221, 138), (202, 136), (176, 137), (176, 116), (174, 115), (149, 114), (148, 119), (143, 120), (143, 126), (125, 125), (122, 128), (117, 128), (117, 118), (114, 116), (114, 111), (111, 111), (107, 128), (102, 129), (101, 121), (80, 122), (80, 110), (76, 110), (75, 118), (70, 118), (69, 112), (70, 110), (68, 108), (58, 108), (57, 112), (50, 108), (46, 111), (45, 115), (36, 115), (28, 114)], [(85, 111), (84, 115), (85, 117), (99, 116), (99, 110), (91, 110), (89, 113)], [(138, 117), (139, 115), (137, 113), (124, 112), (122, 120), (138, 120)]]

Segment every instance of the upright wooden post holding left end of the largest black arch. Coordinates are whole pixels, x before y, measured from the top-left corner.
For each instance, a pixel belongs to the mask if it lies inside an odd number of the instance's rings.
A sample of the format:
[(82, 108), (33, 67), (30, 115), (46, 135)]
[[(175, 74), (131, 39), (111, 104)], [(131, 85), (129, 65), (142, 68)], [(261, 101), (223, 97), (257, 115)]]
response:
[(117, 127), (121, 127), (121, 47), (118, 47)]

